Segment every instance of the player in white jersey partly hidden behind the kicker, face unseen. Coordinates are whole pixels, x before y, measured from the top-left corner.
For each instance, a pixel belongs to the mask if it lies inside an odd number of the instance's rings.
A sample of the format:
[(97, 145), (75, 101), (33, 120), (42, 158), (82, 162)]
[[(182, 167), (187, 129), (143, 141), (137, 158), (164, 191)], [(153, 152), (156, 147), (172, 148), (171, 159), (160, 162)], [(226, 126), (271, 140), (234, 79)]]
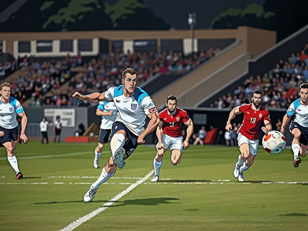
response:
[(102, 122), (100, 124), (98, 145), (95, 148), (95, 158), (94, 158), (94, 168), (98, 167), (99, 157), (102, 155), (102, 149), (105, 144), (108, 143), (108, 138), (111, 132), (112, 123), (115, 120), (117, 114), (117, 109), (115, 103), (100, 101), (97, 106), (96, 115), (102, 117)]

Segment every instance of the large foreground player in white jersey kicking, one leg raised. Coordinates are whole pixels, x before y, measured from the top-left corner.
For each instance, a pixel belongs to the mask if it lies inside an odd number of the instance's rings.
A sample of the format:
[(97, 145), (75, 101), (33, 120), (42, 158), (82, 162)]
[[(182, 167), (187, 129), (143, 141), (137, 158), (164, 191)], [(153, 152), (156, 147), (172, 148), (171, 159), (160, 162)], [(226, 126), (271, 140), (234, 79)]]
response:
[[(111, 154), (99, 178), (90, 186), (83, 202), (90, 202), (99, 188), (111, 176), (116, 168), (123, 168), (127, 159), (137, 148), (145, 143), (144, 137), (153, 132), (160, 123), (157, 108), (151, 97), (140, 87), (136, 87), (138, 72), (127, 68), (122, 72), (122, 85), (110, 87), (103, 93), (81, 95), (75, 92), (73, 97), (79, 100), (114, 102), (118, 110), (109, 136)], [(144, 128), (145, 119), (150, 119)]]

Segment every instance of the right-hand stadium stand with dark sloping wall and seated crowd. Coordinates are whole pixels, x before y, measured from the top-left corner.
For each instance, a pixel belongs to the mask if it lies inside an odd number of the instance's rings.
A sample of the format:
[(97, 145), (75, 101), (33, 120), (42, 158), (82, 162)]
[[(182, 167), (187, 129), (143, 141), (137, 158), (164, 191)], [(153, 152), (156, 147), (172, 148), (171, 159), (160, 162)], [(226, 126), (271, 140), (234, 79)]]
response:
[(260, 89), (265, 93), (262, 105), (287, 108), (297, 99), (299, 83), (307, 81), (307, 36), (308, 25), (248, 60), (244, 73), (222, 84), (213, 94), (204, 95), (195, 107), (221, 108), (248, 103), (253, 89)]

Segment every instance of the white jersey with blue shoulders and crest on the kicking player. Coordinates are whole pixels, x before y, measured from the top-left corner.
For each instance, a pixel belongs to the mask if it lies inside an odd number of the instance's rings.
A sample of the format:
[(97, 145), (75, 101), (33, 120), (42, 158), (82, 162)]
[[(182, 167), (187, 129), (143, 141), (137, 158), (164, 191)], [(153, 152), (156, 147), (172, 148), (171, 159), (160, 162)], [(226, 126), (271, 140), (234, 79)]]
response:
[(136, 136), (144, 131), (143, 126), (147, 115), (157, 111), (154, 101), (140, 87), (136, 87), (135, 94), (132, 97), (124, 95), (123, 85), (110, 87), (105, 91), (105, 98), (113, 100), (118, 109), (115, 121), (124, 123)]

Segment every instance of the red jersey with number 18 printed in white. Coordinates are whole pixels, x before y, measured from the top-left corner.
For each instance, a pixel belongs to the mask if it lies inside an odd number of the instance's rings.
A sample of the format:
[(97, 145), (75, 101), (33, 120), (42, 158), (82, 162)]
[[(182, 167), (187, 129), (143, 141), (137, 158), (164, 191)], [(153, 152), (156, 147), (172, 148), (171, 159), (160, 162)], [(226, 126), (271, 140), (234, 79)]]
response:
[[(264, 107), (260, 107), (258, 111), (253, 110), (252, 103), (242, 104), (239, 108), (244, 113), (244, 120), (239, 132), (249, 140), (259, 139), (259, 128), (264, 120), (270, 121), (270, 114)], [(270, 123), (272, 123), (270, 121)]]

